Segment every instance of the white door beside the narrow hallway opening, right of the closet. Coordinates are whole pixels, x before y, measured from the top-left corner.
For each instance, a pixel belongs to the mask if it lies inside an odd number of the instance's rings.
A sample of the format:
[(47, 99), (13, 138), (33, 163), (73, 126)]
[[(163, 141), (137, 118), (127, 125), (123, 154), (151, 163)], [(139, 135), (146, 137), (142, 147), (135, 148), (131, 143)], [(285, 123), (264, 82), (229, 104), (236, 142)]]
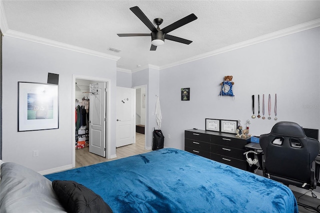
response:
[(116, 147), (134, 143), (135, 89), (116, 87)]

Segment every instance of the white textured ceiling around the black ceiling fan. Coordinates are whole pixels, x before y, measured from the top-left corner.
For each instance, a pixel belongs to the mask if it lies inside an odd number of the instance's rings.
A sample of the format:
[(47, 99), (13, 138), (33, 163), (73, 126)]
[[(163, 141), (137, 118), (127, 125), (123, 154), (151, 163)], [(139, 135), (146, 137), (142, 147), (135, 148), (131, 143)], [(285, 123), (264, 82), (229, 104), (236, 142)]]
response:
[[(116, 33), (149, 33), (129, 7), (138, 6), (160, 28), (194, 13), (198, 18), (150, 51), (151, 39)], [(2, 0), (6, 31), (21, 32), (120, 57), (117, 67), (164, 67), (232, 44), (320, 18), (319, 0)], [(3, 18), (4, 16), (4, 18)], [(3, 20), (2, 20), (3, 22)], [(2, 24), (3, 25), (3, 24)], [(3, 28), (3, 27), (2, 27)], [(1, 30), (3, 31), (3, 29)], [(109, 47), (122, 50), (114, 52)]]

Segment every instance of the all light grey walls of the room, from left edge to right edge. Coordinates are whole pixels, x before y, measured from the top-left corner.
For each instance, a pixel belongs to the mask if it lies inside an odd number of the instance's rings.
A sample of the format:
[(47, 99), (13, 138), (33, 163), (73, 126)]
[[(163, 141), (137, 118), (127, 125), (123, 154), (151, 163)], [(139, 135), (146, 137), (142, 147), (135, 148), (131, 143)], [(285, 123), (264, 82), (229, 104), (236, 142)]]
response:
[[(154, 109), (159, 95), (164, 145), (183, 149), (184, 130), (204, 129), (205, 118), (250, 119), (250, 132), (267, 133), (272, 120), (252, 119), (251, 95), (278, 97), (278, 121), (294, 121), (320, 128), (319, 27), (199, 59), (174, 67), (132, 73), (131, 83), (118, 81), (116, 61), (66, 49), (3, 37), (2, 159), (42, 171), (72, 163), (72, 74), (108, 78), (115, 111), (115, 86), (146, 84), (146, 144), (152, 145), (156, 127)], [(59, 128), (17, 132), (17, 81), (46, 82), (47, 72), (59, 74)], [(128, 78), (130, 74), (124, 73)], [(233, 75), (235, 100), (218, 98), (224, 75)], [(119, 77), (119, 76), (118, 76)], [(119, 77), (120, 79), (120, 77)], [(123, 83), (123, 84), (122, 84)], [(127, 84), (131, 84), (128, 86)], [(180, 89), (190, 87), (190, 101), (181, 101)], [(266, 109), (267, 111), (267, 109)], [(274, 115), (273, 115), (274, 116)], [(115, 120), (115, 113), (111, 113)], [(111, 155), (115, 154), (115, 121), (111, 121)], [(167, 137), (170, 134), (170, 138)], [(32, 150), (39, 150), (32, 157)]]

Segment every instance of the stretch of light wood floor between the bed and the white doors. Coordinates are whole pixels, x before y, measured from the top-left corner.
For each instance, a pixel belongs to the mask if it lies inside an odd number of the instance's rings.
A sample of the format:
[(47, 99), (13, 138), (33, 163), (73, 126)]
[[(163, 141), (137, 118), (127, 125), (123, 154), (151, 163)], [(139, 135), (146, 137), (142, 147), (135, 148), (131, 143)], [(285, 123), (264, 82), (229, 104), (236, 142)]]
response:
[(75, 149), (75, 167), (92, 165), (99, 162), (120, 159), (123, 157), (132, 156), (135, 154), (141, 154), (141, 153), (150, 151), (145, 149), (144, 147), (145, 147), (144, 134), (135, 133), (135, 143), (116, 148), (115, 152), (117, 157), (112, 159), (107, 159), (105, 157), (101, 157), (99, 155), (90, 153), (88, 147)]

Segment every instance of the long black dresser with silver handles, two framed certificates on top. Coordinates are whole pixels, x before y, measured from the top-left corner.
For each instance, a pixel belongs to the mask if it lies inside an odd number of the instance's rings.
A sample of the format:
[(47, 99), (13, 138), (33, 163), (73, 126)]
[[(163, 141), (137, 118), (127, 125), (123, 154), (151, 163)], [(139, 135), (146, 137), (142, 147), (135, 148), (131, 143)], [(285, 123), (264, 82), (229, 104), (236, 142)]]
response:
[(201, 129), (184, 130), (184, 150), (247, 170), (244, 145), (250, 138), (238, 138), (235, 134), (206, 131)]

